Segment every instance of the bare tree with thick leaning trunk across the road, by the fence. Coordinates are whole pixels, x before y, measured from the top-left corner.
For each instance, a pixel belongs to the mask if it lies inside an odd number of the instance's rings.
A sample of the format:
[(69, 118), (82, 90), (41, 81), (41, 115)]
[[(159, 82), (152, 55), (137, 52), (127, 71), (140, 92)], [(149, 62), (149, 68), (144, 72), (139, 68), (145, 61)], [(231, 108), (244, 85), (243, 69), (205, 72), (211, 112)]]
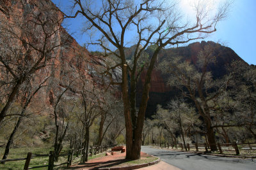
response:
[(223, 80), (213, 80), (211, 72), (207, 70), (207, 66), (216, 59), (214, 48), (216, 47), (211, 45), (205, 46), (204, 50), (198, 54), (198, 69), (188, 61), (183, 62), (178, 58), (169, 64), (163, 62), (163, 68), (170, 67), (169, 70), (165, 69), (165, 71), (172, 73), (172, 77), (168, 81), (170, 85), (182, 90), (182, 95), (195, 103), (196, 110), (204, 118), (207, 140), (212, 151), (217, 150), (215, 133), (212, 127), (212, 111), (216, 109), (216, 100), (220, 99), (218, 98), (220, 94), (225, 92), (229, 80), (228, 77)]

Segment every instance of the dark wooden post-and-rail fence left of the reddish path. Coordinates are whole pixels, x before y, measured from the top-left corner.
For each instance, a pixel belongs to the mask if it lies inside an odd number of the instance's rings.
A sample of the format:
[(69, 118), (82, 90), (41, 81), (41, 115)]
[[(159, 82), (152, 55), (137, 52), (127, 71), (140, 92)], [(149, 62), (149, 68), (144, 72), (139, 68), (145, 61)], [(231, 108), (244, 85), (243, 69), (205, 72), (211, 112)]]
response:
[[(92, 157), (93, 155), (97, 155), (97, 153), (102, 153), (105, 152), (106, 150), (108, 150), (109, 148), (111, 148), (112, 146), (115, 145), (108, 145), (108, 146), (90, 146), (89, 148), (89, 155), (90, 157)], [(31, 153), (28, 152), (28, 155), (26, 158), (20, 158), (20, 159), (4, 159), (4, 160), (0, 160), (1, 164), (4, 164), (5, 162), (11, 162), (11, 161), (18, 161), (18, 160), (26, 160), (25, 164), (24, 164), (24, 170), (27, 169), (35, 169), (35, 168), (39, 168), (39, 167), (48, 167), (48, 170), (52, 170), (53, 167), (57, 167), (57, 166), (62, 166), (67, 164), (67, 167), (70, 167), (72, 164), (72, 160), (74, 157), (74, 154), (76, 154), (76, 157), (80, 157), (81, 156), (81, 160), (83, 160), (83, 153), (84, 148), (81, 148), (79, 150), (76, 150), (74, 152), (74, 150), (69, 150), (66, 153), (61, 153), (59, 155), (59, 157), (65, 157), (67, 156), (67, 162), (63, 162), (61, 164), (54, 164), (54, 158), (55, 158), (55, 154), (54, 151), (50, 151), (49, 154), (44, 154), (44, 155), (39, 155), (39, 154), (35, 154), (35, 153)], [(30, 161), (35, 158), (35, 157), (49, 157), (49, 161), (48, 161), (48, 165), (44, 165), (44, 166), (34, 166), (34, 167), (29, 167), (29, 163)]]

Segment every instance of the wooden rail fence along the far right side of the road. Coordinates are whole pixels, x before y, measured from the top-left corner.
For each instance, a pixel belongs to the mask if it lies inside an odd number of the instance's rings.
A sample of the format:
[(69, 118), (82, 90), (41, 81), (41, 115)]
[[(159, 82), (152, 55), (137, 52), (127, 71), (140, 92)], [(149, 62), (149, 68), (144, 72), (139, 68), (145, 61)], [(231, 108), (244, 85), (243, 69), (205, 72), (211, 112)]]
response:
[[(176, 150), (196, 151), (196, 152), (209, 152), (210, 146), (208, 143), (187, 143), (184, 146), (182, 143), (177, 145), (169, 145), (169, 143), (153, 144), (154, 146), (161, 146), (162, 148), (170, 148)], [(219, 153), (235, 154), (235, 155), (254, 155), (256, 156), (256, 143), (217, 143)]]

